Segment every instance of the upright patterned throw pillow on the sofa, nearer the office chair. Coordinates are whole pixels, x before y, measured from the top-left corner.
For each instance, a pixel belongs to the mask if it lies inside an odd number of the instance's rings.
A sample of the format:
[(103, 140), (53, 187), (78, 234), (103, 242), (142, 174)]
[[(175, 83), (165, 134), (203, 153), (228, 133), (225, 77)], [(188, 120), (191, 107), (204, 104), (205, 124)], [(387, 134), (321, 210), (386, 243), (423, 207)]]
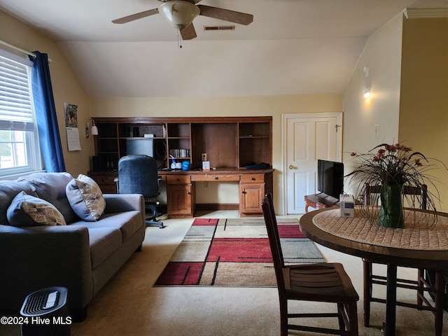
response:
[(99, 186), (89, 176), (80, 174), (67, 184), (65, 193), (71, 209), (84, 221), (94, 222), (104, 214), (106, 201)]

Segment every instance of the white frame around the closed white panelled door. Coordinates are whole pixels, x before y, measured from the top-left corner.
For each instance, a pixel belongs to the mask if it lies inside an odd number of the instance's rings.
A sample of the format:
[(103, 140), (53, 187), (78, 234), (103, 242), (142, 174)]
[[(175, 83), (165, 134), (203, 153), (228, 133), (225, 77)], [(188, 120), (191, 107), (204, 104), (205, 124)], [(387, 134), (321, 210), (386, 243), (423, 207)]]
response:
[[(340, 112), (316, 112), (316, 113), (282, 113), (282, 123), (281, 123), (281, 162), (282, 162), (282, 172), (287, 172), (286, 169), (288, 169), (288, 162), (287, 162), (287, 155), (286, 155), (286, 146), (288, 144), (288, 120), (289, 119), (297, 119), (297, 118), (336, 118), (336, 123), (338, 125), (337, 129), (337, 136), (336, 136), (336, 158), (340, 162), (342, 162), (342, 134), (344, 130), (344, 125), (342, 123), (344, 113), (342, 111)], [(286, 186), (288, 184), (287, 181), (287, 174), (284, 173), (283, 175), (283, 193), (281, 193), (282, 197), (282, 204), (283, 204), (283, 214), (288, 214), (288, 204), (286, 202), (287, 190)]]

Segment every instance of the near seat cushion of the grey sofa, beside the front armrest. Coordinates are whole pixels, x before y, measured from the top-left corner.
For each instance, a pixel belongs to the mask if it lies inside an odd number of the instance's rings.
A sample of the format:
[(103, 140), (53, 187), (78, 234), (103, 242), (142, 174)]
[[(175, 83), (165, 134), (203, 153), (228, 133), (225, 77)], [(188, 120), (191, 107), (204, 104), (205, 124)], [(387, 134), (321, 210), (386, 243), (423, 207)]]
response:
[(90, 228), (89, 241), (92, 269), (117, 251), (122, 244), (121, 233), (118, 228)]

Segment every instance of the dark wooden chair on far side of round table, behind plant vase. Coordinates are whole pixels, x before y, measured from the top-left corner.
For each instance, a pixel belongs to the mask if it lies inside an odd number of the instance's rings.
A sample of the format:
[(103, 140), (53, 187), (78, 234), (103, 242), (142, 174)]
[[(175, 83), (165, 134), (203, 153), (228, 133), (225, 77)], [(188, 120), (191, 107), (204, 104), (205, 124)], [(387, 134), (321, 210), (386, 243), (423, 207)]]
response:
[[(410, 195), (411, 197), (419, 198), (419, 209), (427, 209), (428, 204), (428, 187), (426, 185), (423, 188), (405, 186), (402, 190), (404, 195)], [(378, 200), (378, 196), (372, 196), (372, 194), (379, 194), (381, 186), (370, 186), (369, 183), (364, 185), (364, 204), (372, 204), (372, 198), (375, 203)], [(375, 262), (379, 263), (379, 262)], [(370, 325), (370, 302), (382, 302), (386, 303), (386, 300), (373, 297), (372, 289), (373, 285), (384, 285), (387, 286), (387, 277), (383, 275), (373, 274), (372, 272), (371, 260), (363, 259), (363, 272), (364, 272), (364, 325), (368, 327)], [(402, 307), (411, 307), (420, 310), (433, 311), (435, 315), (435, 335), (442, 335), (443, 326), (443, 294), (444, 294), (444, 271), (435, 270), (435, 281), (433, 284), (425, 279), (425, 269), (417, 269), (417, 280), (409, 279), (397, 279), (396, 287), (413, 289), (417, 292), (417, 302), (412, 304), (409, 302), (396, 302), (396, 305)], [(430, 293), (431, 297), (434, 299), (434, 305), (430, 304), (424, 293)], [(423, 305), (424, 304), (424, 305)]]

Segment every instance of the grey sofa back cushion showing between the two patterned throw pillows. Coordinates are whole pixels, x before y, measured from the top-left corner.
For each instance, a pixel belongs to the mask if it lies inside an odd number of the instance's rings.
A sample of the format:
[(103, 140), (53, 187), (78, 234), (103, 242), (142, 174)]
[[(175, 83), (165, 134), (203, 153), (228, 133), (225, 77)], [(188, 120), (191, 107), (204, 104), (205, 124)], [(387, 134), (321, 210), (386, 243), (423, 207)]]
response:
[(69, 173), (34, 173), (18, 181), (31, 183), (38, 197), (53, 204), (64, 215), (66, 223), (71, 223), (78, 219), (65, 195), (65, 187), (72, 179)]

